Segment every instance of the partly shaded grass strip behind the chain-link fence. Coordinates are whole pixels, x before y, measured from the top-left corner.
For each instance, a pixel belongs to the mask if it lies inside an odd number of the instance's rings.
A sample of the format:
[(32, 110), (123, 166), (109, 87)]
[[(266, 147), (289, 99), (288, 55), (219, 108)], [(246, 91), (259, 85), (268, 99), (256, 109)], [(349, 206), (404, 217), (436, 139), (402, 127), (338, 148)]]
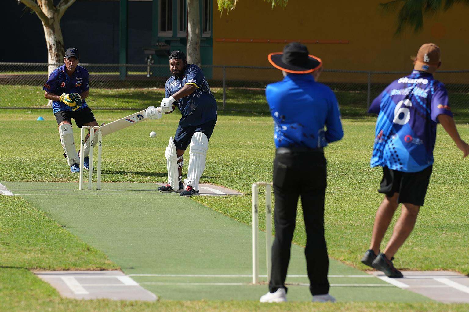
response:
[[(219, 82), (219, 81), (217, 81)], [(244, 82), (228, 81), (226, 89), (226, 110), (246, 111), (250, 115), (266, 115), (269, 113), (265, 100), (265, 89), (260, 87), (240, 87)], [(97, 83), (98, 84), (98, 83)], [(148, 83), (147, 83), (148, 84)], [(156, 82), (150, 84), (156, 85)], [(161, 83), (159, 83), (161, 84)], [(219, 85), (219, 83), (218, 83)], [(212, 92), (217, 100), (219, 109), (223, 109), (223, 88), (217, 84)], [(345, 84), (329, 84), (340, 104), (342, 116), (363, 117), (368, 116), (367, 91), (363, 86), (348, 86)], [(337, 86), (336, 86), (337, 85)], [(382, 85), (371, 88), (371, 101), (379, 95), (384, 87)], [(165, 97), (163, 87), (150, 88), (91, 88), (87, 103), (95, 109), (146, 109), (148, 106), (158, 106)], [(469, 95), (460, 90), (449, 90), (448, 96), (454, 116), (461, 122), (469, 123)], [(44, 108), (47, 101), (44, 91), (38, 86), (0, 85), (0, 107), (28, 107)]]

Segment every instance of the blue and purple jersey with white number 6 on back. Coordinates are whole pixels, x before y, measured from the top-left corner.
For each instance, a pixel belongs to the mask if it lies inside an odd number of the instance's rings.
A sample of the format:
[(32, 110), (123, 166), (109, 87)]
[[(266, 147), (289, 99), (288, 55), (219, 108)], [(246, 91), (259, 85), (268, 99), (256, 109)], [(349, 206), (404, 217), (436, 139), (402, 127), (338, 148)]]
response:
[(446, 87), (431, 73), (393, 81), (371, 103), (378, 114), (371, 167), (418, 172), (433, 164), (438, 115), (453, 116)]

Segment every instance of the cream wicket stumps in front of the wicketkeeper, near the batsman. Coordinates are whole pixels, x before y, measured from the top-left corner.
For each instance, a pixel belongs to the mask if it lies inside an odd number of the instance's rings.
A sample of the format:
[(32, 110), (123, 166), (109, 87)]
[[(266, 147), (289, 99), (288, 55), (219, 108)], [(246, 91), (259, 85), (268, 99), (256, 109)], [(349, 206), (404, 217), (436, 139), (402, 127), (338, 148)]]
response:
[[(83, 126), (80, 136), (80, 189), (83, 189), (83, 149), (85, 146), (85, 132), (86, 129), (90, 129), (90, 170), (88, 171), (88, 189), (91, 189), (91, 184), (93, 182), (93, 150), (94, 150), (94, 132), (98, 131), (98, 168), (97, 168), (97, 185), (96, 189), (101, 189), (101, 147), (103, 136), (99, 126)], [(92, 131), (91, 131), (92, 129)]]

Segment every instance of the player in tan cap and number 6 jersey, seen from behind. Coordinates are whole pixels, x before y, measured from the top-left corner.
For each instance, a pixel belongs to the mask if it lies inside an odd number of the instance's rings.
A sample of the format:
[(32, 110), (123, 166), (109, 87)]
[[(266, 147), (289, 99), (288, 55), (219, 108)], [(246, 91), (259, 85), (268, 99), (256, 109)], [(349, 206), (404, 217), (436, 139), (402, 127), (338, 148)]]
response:
[[(437, 123), (441, 123), (456, 146), (469, 154), (453, 120), (445, 86), (433, 78), (441, 65), (435, 44), (420, 47), (414, 71), (393, 81), (371, 103), (369, 113), (378, 114), (371, 167), (383, 167), (381, 189), (385, 198), (376, 213), (370, 249), (362, 262), (389, 277), (402, 277), (393, 256), (412, 231), (424, 204), (433, 165)], [(383, 253), (381, 240), (399, 203), (401, 216)]]

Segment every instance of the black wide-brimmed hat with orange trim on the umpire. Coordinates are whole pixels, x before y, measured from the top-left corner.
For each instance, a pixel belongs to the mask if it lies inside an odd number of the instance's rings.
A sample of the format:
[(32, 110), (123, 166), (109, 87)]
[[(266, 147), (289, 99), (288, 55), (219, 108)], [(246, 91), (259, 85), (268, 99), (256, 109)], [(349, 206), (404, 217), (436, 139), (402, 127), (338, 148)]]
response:
[(322, 66), (320, 58), (310, 55), (304, 44), (292, 42), (283, 52), (270, 53), (267, 57), (276, 68), (287, 73), (312, 73)]

